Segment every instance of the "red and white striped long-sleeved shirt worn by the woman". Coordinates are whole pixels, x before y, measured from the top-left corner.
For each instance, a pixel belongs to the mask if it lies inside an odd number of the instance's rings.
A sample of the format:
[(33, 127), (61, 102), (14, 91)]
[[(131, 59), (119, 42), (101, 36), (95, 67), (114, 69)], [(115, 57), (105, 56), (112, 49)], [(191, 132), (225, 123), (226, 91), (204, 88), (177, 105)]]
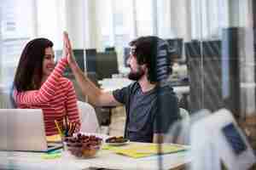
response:
[(25, 92), (14, 91), (14, 99), (18, 108), (43, 110), (45, 132), (48, 136), (58, 133), (55, 120), (62, 121), (66, 115), (70, 122), (78, 122), (78, 127), (80, 127), (73, 83), (62, 77), (66, 65), (67, 58), (61, 59), (40, 89)]

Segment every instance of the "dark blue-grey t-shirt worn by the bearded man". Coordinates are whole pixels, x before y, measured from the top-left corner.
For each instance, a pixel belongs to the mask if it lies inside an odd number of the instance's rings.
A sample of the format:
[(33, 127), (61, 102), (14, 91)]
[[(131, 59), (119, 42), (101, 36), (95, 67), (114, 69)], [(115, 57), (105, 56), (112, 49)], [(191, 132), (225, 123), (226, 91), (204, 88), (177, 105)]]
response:
[(154, 133), (167, 133), (172, 123), (179, 119), (177, 97), (169, 86), (160, 88), (157, 95), (156, 88), (143, 93), (139, 83), (134, 82), (113, 91), (113, 97), (125, 105), (125, 137), (131, 141), (153, 142)]

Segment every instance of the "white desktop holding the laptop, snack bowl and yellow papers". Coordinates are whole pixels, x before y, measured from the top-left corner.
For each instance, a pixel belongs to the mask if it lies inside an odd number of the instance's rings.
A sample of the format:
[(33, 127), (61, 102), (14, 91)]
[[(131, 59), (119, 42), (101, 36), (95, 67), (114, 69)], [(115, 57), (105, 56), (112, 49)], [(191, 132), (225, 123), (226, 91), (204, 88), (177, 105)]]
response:
[[(137, 143), (145, 144), (145, 143)], [(164, 169), (180, 169), (189, 158), (185, 152), (167, 154), (163, 157)], [(42, 153), (32, 152), (5, 152), (0, 151), (0, 169), (90, 169), (90, 168), (108, 168), (108, 169), (139, 169), (139, 170), (157, 170), (157, 156), (144, 158), (131, 158), (113, 153), (110, 150), (101, 150), (96, 157), (90, 159), (76, 159), (66, 152), (62, 152), (61, 158), (46, 160)]]

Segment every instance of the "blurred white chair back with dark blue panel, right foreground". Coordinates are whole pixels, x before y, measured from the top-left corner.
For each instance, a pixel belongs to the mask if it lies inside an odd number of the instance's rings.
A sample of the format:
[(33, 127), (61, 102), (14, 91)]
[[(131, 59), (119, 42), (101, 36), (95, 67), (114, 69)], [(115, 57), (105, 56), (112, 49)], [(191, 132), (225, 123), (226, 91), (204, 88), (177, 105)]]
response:
[(191, 170), (249, 169), (256, 162), (246, 136), (226, 109), (195, 122), (190, 135)]

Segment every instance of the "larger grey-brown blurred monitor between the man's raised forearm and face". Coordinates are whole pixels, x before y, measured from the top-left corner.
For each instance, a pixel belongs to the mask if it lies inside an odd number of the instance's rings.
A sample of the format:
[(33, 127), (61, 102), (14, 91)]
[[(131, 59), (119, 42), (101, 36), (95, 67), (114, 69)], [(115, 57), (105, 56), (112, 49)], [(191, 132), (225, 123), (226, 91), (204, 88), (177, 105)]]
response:
[(96, 74), (98, 79), (111, 78), (118, 74), (118, 60), (115, 52), (96, 54)]

